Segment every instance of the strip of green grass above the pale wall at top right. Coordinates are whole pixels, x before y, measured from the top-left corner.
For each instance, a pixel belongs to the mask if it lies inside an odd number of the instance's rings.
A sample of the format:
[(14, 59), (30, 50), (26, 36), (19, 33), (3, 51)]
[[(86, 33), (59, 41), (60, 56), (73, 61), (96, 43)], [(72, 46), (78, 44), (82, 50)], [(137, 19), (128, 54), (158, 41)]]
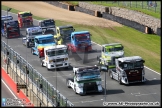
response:
[[(78, 5), (79, 2), (74, 2), (74, 1), (69, 1), (70, 4), (73, 5)], [(153, 16), (155, 18), (161, 19), (161, 8), (160, 8), (160, 1), (157, 1), (157, 7), (148, 7), (147, 6), (147, 1), (143, 1), (143, 7), (142, 7), (142, 3), (141, 1), (131, 1), (131, 5), (130, 5), (130, 1), (127, 2), (113, 2), (113, 1), (93, 1), (93, 2), (89, 2), (91, 4), (96, 4), (96, 5), (103, 5), (103, 6), (107, 6), (107, 7), (121, 7), (121, 8), (127, 8), (130, 10), (135, 10), (138, 12), (142, 12), (144, 14)], [(136, 5), (137, 4), (137, 5)], [(155, 10), (156, 9), (156, 10)]]

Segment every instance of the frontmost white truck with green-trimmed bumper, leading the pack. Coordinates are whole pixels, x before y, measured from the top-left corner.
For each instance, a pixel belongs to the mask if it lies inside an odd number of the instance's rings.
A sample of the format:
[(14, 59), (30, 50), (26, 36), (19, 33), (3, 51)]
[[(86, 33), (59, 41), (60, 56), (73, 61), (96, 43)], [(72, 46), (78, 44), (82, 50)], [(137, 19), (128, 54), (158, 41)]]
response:
[(66, 85), (68, 88), (72, 88), (76, 94), (103, 92), (100, 70), (97, 66), (73, 67), (73, 73), (73, 78), (66, 79)]

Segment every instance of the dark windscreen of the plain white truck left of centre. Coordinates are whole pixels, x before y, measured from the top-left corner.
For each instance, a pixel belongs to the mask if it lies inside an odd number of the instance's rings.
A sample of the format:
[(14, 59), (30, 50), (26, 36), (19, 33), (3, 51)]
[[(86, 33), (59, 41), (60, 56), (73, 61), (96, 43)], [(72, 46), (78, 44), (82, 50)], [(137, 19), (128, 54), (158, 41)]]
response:
[(58, 50), (58, 51), (48, 51), (47, 52), (47, 55), (49, 57), (52, 57), (52, 56), (58, 56), (58, 55), (65, 55), (67, 54), (67, 50), (64, 49), (64, 50)]

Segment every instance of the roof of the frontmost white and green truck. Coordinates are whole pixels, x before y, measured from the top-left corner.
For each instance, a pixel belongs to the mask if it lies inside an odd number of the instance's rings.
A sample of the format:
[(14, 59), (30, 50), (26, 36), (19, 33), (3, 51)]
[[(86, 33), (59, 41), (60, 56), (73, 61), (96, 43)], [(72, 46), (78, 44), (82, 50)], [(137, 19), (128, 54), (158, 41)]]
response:
[(95, 70), (99, 71), (99, 68), (97, 66), (74, 67), (74, 71), (76, 73), (82, 73), (82, 72), (87, 72), (87, 71), (95, 71)]

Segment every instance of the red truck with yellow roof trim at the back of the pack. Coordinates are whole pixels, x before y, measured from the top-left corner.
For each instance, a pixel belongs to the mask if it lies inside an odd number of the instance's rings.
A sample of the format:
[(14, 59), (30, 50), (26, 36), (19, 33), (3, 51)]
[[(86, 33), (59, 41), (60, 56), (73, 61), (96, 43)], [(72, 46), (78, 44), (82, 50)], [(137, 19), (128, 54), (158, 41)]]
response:
[(32, 13), (30, 11), (18, 12), (19, 27), (31, 27), (33, 26)]

